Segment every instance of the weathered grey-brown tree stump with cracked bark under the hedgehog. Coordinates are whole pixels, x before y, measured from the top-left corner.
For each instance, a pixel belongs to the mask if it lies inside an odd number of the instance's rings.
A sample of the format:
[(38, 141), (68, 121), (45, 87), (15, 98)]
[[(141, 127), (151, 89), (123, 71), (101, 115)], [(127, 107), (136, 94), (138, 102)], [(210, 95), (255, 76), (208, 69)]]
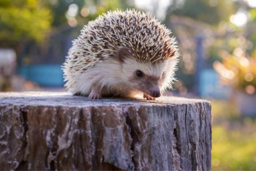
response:
[(0, 93), (0, 168), (211, 170), (211, 106)]

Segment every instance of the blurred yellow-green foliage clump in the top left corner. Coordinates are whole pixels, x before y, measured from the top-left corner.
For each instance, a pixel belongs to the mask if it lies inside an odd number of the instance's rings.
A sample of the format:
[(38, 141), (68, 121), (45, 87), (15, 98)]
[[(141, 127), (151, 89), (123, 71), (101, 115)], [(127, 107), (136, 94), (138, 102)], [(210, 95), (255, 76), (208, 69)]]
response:
[(42, 41), (51, 29), (51, 10), (44, 1), (0, 1), (0, 46), (16, 48), (25, 40)]

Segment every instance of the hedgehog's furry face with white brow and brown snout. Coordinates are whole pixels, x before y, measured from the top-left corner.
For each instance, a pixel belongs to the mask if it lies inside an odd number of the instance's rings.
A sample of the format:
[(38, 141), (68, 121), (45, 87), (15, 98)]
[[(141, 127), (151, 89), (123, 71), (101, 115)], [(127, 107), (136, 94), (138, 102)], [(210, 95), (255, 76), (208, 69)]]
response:
[[(122, 63), (121, 78), (129, 87), (157, 98), (164, 90), (170, 88), (175, 65), (173, 58), (157, 64), (140, 63), (133, 58), (127, 58)], [(136, 75), (138, 71), (142, 72), (142, 76)], [(155, 92), (160, 94), (154, 95)]]

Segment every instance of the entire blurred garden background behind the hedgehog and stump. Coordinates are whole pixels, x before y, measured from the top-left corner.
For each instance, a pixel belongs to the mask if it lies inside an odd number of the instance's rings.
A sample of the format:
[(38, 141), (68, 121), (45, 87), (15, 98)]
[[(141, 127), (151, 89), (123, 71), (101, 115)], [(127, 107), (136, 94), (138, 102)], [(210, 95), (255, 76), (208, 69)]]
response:
[(61, 65), (83, 25), (136, 8), (173, 31), (169, 95), (213, 110), (213, 170), (256, 170), (256, 0), (0, 0), (0, 92), (65, 91)]

